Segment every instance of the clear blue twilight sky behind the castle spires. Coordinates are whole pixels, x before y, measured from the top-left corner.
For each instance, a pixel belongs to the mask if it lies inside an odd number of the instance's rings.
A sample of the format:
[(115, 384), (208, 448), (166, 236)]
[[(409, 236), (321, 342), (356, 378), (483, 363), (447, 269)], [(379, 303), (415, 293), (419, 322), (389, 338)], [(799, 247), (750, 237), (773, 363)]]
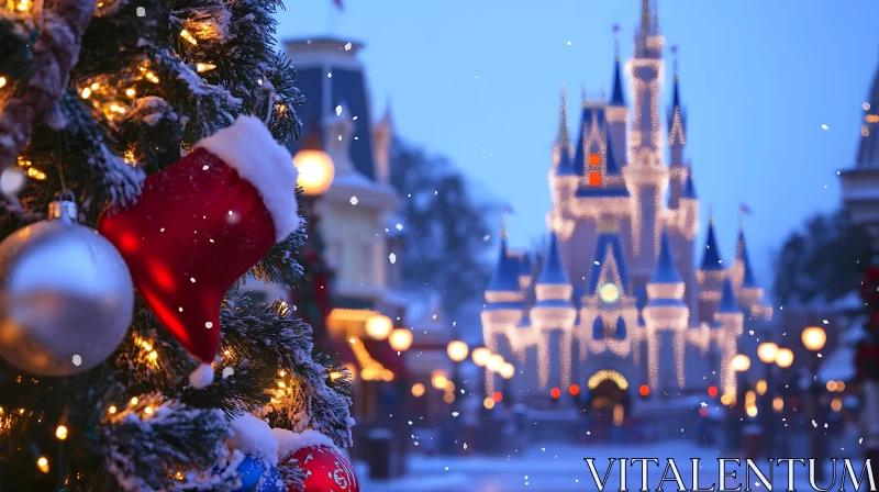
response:
[[(620, 24), (621, 54), (630, 57), (641, 4), (345, 0), (338, 13), (331, 0), (287, 3), (280, 38), (333, 34), (365, 43), (372, 112), (390, 99), (399, 135), (447, 155), (477, 190), (509, 203), (514, 247), (545, 231), (560, 85), (574, 100), (581, 87), (600, 96), (611, 83), (611, 27)], [(769, 287), (771, 251), (785, 235), (839, 205), (836, 170), (853, 165), (879, 66), (879, 2), (663, 0), (658, 8), (664, 112), (668, 47), (678, 46), (686, 154), (702, 200), (697, 246), (713, 204), (719, 247), (731, 258), (737, 208), (747, 204), (748, 246)], [(631, 102), (631, 89), (625, 96)], [(570, 127), (579, 124), (579, 110), (569, 116)]]

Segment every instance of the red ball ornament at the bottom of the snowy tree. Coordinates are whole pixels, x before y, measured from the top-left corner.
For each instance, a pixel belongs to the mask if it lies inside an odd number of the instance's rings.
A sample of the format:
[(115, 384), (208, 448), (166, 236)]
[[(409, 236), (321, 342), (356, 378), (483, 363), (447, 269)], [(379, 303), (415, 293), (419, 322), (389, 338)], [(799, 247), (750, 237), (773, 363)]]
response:
[(290, 458), (305, 472), (304, 489), (289, 488), (289, 492), (360, 492), (354, 467), (333, 446), (309, 446), (294, 451)]

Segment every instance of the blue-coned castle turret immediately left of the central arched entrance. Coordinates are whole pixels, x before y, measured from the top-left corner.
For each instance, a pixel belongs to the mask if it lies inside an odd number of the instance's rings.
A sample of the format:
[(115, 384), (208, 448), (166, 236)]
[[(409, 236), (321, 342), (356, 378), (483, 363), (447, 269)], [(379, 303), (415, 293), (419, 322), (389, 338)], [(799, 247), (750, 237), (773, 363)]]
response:
[[(537, 342), (537, 360), (539, 387), (546, 388), (549, 382), (549, 361), (558, 360), (560, 369), (561, 388), (570, 385), (571, 367), (571, 328), (577, 312), (570, 302), (574, 288), (568, 280), (567, 273), (561, 266), (561, 258), (558, 254), (558, 238), (555, 234), (549, 235), (549, 247), (546, 251), (546, 260), (537, 282), (535, 293), (537, 302), (531, 309), (531, 322), (534, 328), (539, 331)], [(558, 357), (553, 357), (556, 350), (555, 344), (550, 345), (549, 332), (560, 331), (558, 340)], [(554, 383), (556, 381), (553, 381)]]

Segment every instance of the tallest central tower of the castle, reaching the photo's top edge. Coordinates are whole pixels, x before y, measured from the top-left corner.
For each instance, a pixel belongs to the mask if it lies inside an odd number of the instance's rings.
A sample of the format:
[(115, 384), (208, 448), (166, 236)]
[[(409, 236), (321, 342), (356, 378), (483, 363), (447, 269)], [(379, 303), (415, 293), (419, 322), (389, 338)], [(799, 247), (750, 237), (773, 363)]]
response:
[[(653, 19), (652, 14), (653, 13)], [(659, 237), (665, 226), (661, 197), (668, 186), (663, 163), (659, 122), (659, 74), (663, 69), (663, 36), (650, 1), (643, 0), (641, 29), (635, 35), (632, 59), (634, 119), (630, 136), (630, 165), (624, 168), (632, 192), (632, 238), (635, 258), (632, 276), (646, 281), (653, 271)]]

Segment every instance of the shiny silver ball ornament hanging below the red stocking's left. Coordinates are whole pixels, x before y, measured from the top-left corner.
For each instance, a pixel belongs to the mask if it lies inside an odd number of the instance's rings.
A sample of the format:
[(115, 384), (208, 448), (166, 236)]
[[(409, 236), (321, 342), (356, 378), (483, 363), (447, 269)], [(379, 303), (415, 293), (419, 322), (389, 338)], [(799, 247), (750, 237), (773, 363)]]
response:
[(0, 243), (0, 356), (38, 376), (69, 376), (101, 364), (132, 320), (134, 287), (125, 261), (76, 216), (76, 203), (58, 200), (47, 221)]

